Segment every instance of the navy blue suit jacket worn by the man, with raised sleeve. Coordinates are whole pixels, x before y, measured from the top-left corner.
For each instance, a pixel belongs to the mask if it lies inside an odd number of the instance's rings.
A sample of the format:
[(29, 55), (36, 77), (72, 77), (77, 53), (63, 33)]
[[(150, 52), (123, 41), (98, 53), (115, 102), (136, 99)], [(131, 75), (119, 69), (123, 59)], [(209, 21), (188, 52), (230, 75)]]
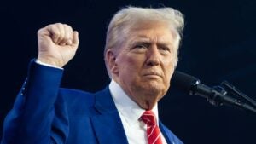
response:
[[(61, 89), (62, 72), (30, 64), (1, 144), (128, 144), (108, 87), (96, 93)], [(161, 122), (160, 130), (167, 143), (182, 143)]]

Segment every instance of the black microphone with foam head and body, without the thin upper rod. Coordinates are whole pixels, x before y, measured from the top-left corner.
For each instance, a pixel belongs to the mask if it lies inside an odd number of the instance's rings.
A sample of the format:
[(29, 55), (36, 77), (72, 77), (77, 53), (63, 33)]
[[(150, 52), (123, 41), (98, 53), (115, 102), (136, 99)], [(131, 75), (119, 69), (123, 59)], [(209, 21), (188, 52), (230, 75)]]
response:
[(256, 112), (255, 107), (227, 95), (228, 92), (222, 86), (214, 86), (211, 88), (205, 84), (201, 84), (198, 78), (184, 72), (175, 71), (172, 75), (171, 84), (173, 87), (189, 93), (189, 95), (200, 95), (207, 98), (207, 101), (213, 106), (222, 106), (225, 104)]

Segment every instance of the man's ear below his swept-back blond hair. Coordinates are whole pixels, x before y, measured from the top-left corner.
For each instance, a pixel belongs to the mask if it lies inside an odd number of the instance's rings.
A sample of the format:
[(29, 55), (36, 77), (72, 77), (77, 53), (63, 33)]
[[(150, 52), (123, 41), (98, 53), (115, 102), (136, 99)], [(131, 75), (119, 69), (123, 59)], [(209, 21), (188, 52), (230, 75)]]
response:
[(113, 49), (108, 49), (106, 52), (106, 60), (107, 60), (107, 65), (109, 68), (109, 72), (113, 74), (117, 74), (119, 72), (118, 66), (116, 63), (116, 56), (113, 52)]

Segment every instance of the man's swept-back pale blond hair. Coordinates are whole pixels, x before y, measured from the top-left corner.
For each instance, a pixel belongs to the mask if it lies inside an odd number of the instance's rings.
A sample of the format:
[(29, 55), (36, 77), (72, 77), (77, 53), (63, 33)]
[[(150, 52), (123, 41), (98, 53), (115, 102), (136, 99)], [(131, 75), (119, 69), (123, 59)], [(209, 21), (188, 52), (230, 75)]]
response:
[[(174, 51), (177, 65), (177, 52), (181, 40), (184, 18), (183, 14), (172, 8), (137, 8), (126, 7), (120, 9), (113, 15), (112, 20), (108, 25), (108, 32), (106, 37), (106, 44), (104, 49), (104, 56), (108, 49), (116, 49), (122, 43), (123, 38), (128, 35), (132, 26), (138, 25), (142, 21), (163, 22), (171, 27), (171, 32), (175, 38)], [(108, 69), (108, 66), (107, 66)], [(108, 72), (110, 76), (110, 72)]]

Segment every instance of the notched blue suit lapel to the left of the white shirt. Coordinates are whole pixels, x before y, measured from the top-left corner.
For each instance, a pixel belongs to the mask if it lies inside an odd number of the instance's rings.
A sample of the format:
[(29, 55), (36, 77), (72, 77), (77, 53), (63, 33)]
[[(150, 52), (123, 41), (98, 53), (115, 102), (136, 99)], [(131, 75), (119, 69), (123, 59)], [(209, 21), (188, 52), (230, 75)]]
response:
[(109, 89), (96, 93), (95, 108), (100, 114), (90, 117), (100, 144), (128, 144), (119, 112)]

